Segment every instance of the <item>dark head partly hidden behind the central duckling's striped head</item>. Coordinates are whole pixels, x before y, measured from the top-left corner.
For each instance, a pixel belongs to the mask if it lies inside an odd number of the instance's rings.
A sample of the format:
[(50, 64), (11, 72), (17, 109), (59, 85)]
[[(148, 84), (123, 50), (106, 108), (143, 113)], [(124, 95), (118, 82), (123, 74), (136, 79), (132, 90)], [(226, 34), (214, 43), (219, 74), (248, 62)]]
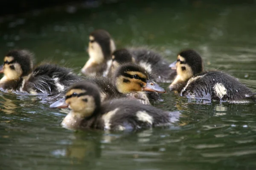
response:
[(113, 74), (120, 65), (130, 62), (135, 62), (135, 59), (127, 49), (124, 48), (114, 51), (112, 54), (112, 62), (110, 68), (111, 74)]

